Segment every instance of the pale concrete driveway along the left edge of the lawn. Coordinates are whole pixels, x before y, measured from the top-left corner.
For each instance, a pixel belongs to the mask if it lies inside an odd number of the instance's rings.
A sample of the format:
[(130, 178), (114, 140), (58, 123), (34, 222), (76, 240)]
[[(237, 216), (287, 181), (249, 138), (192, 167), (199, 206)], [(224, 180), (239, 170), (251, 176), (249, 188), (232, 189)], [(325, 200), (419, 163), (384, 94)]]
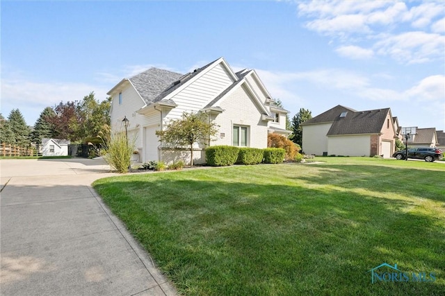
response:
[(1, 159), (1, 295), (175, 295), (90, 184), (97, 159)]

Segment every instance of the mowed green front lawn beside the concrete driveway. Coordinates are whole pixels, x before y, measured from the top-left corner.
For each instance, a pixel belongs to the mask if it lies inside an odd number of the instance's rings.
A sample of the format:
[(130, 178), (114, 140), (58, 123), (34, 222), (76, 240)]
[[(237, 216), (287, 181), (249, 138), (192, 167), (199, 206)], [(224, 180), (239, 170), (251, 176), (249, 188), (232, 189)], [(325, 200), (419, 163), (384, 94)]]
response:
[[(444, 295), (445, 164), (316, 160), (94, 186), (186, 295)], [(382, 263), (409, 281), (372, 284)]]

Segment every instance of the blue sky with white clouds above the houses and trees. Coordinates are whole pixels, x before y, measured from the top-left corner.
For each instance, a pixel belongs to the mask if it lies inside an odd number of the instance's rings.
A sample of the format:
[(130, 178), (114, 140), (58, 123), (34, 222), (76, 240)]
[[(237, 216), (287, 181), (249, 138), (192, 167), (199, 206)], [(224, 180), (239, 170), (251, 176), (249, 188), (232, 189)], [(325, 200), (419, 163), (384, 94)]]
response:
[(103, 100), (149, 67), (223, 56), (295, 115), (390, 107), (445, 130), (443, 1), (1, 1), (1, 113)]

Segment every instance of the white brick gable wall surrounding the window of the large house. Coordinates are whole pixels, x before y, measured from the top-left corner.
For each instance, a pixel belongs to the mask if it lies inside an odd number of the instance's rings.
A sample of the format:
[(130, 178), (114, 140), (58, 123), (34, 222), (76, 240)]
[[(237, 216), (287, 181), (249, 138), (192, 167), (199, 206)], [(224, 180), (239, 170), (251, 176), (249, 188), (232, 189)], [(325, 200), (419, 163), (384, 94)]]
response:
[[(211, 146), (229, 145), (232, 146), (233, 125), (243, 125), (249, 127), (248, 146), (252, 148), (267, 147), (267, 123), (261, 121), (261, 112), (252, 101), (244, 86), (238, 87), (219, 106), (225, 110), (216, 117), (216, 124), (220, 125), (218, 139), (211, 142)], [(225, 137), (220, 137), (220, 134)]]

